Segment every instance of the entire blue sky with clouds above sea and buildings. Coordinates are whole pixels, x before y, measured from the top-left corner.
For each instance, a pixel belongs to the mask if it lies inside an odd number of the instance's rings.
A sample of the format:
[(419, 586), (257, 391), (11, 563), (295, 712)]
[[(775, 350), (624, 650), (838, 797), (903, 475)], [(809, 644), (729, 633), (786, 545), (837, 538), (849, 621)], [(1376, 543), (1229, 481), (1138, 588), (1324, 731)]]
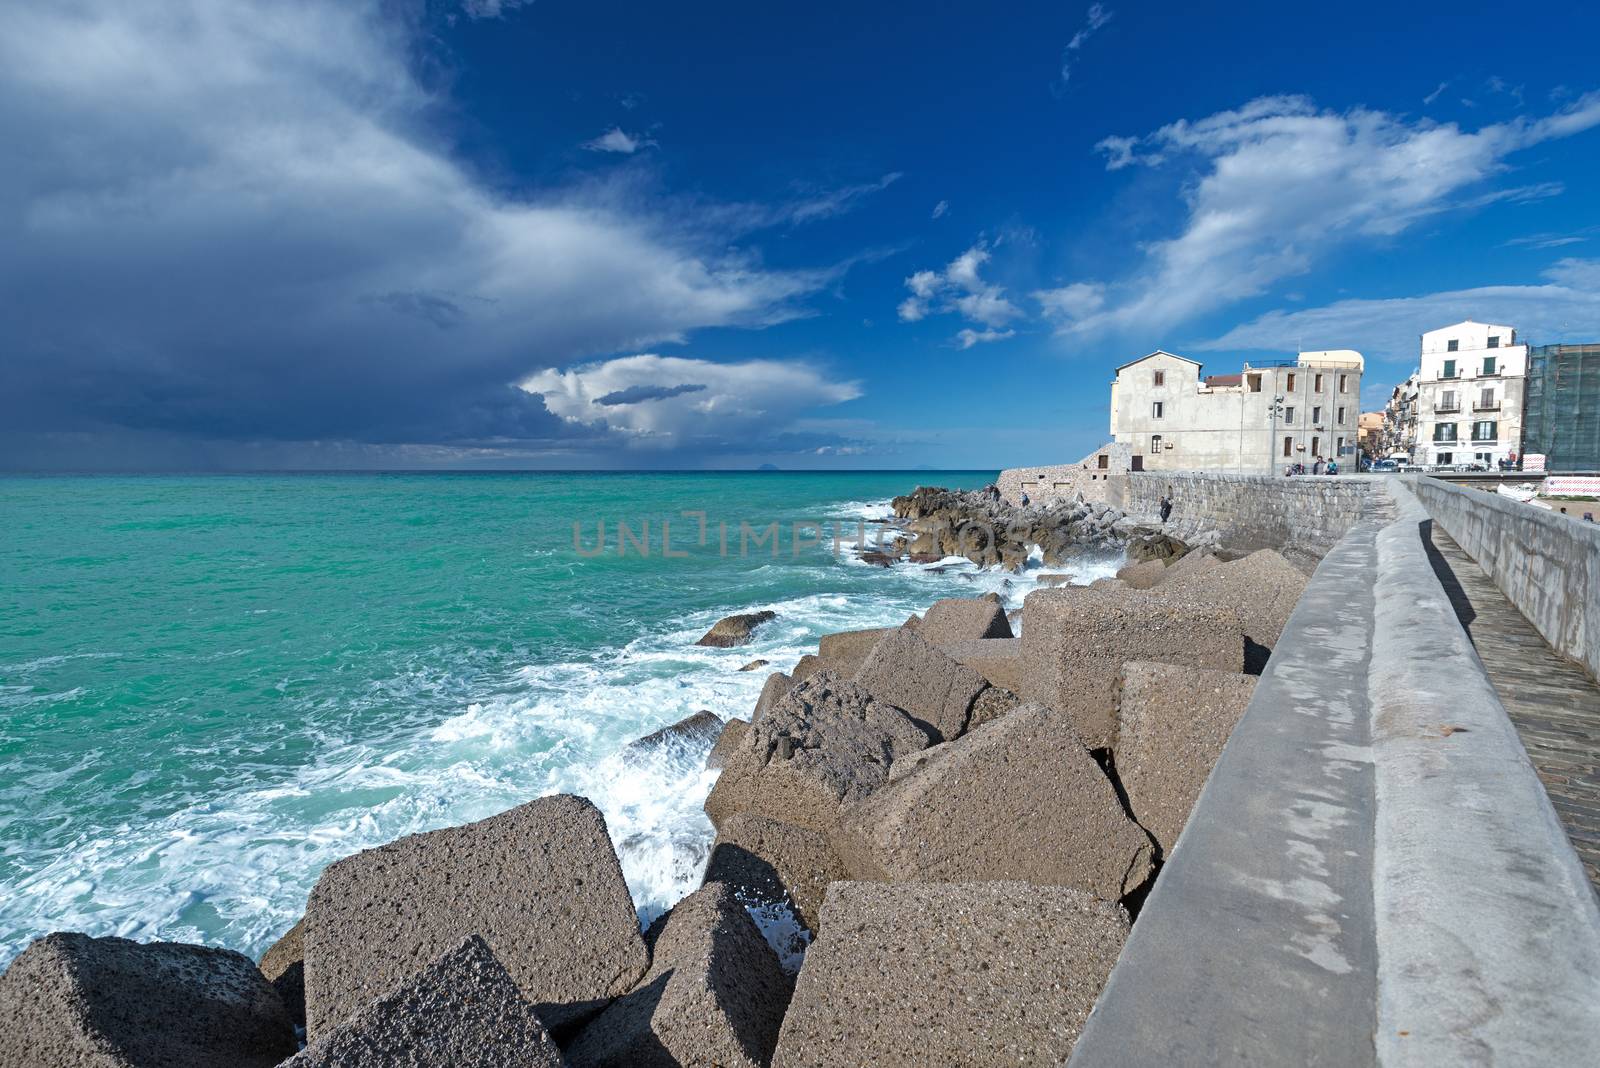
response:
[[(0, 468), (986, 468), (1600, 341), (1600, 6), (10, 0)], [(1312, 5), (1318, 6), (1318, 5)]]

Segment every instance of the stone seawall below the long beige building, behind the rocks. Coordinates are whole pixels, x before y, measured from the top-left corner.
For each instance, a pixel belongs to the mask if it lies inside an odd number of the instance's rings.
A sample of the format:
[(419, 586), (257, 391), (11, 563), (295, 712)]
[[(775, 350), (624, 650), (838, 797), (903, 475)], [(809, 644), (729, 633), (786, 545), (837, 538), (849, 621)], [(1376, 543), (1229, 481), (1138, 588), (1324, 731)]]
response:
[(1360, 518), (1373, 486), (1366, 475), (1128, 472), (1110, 480), (1110, 504), (1130, 515), (1155, 515), (1170, 494), (1174, 520), (1203, 516), (1230, 548), (1294, 545), (1320, 555)]

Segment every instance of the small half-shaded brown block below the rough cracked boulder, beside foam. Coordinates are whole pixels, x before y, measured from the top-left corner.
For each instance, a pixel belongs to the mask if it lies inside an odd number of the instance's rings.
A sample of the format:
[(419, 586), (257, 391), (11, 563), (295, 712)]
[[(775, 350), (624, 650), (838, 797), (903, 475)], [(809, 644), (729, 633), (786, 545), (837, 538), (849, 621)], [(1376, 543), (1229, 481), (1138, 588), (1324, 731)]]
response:
[[(894, 761), (893, 775), (902, 763)], [(738, 812), (723, 820), (706, 865), (706, 883), (726, 883), (744, 900), (784, 902), (811, 932), (827, 887), (850, 878), (826, 835)]]

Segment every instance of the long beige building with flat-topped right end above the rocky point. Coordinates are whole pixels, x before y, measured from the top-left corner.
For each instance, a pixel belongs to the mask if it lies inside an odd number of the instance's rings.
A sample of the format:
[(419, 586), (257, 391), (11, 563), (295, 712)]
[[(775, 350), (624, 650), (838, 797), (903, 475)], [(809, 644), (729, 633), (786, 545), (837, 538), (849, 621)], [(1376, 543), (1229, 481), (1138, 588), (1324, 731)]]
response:
[(1336, 459), (1354, 470), (1362, 353), (1302, 352), (1202, 374), (1197, 360), (1152, 352), (1117, 368), (1110, 433), (1133, 470), (1278, 473)]

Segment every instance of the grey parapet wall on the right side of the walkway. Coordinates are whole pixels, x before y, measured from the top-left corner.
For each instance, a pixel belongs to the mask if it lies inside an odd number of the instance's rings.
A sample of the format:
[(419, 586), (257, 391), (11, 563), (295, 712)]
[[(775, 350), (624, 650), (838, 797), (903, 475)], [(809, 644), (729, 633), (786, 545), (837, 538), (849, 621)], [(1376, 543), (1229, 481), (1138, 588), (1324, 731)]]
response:
[(1600, 678), (1600, 526), (1438, 478), (1408, 481), (1550, 648)]

